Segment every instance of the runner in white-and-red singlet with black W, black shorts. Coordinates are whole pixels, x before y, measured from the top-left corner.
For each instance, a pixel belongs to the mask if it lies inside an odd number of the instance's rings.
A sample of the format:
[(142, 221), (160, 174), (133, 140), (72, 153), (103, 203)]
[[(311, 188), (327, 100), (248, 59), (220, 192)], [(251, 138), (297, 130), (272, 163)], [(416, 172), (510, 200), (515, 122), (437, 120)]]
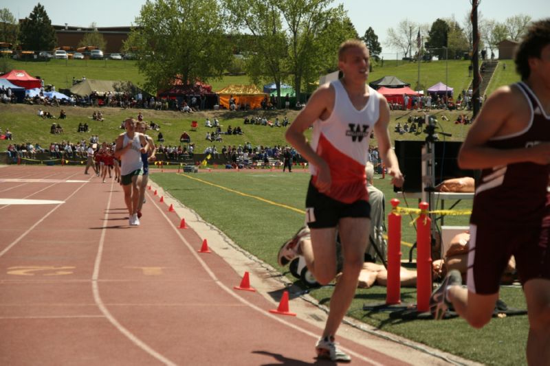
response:
[[(369, 242), (370, 206), (365, 165), (369, 137), (374, 130), (380, 155), (392, 183), (400, 187), (403, 175), (391, 148), (386, 99), (367, 86), (369, 49), (362, 41), (340, 45), (340, 80), (324, 84), (289, 126), (286, 138), (310, 163), (311, 181), (306, 198), (306, 220), (311, 245), (294, 248), (320, 284), (336, 276), (336, 230), (344, 253), (344, 271), (331, 297), (325, 330), (316, 344), (318, 356), (350, 361), (336, 347), (334, 336), (355, 295)], [(311, 145), (304, 132), (313, 125)], [(309, 241), (304, 241), (309, 243)], [(283, 250), (284, 252), (285, 250)]]

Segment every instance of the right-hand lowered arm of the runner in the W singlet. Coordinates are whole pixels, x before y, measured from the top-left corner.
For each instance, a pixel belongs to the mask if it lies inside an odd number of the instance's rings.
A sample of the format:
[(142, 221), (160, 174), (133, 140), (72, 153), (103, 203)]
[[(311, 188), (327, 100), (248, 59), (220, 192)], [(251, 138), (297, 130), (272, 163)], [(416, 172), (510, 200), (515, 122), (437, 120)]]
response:
[(403, 185), (404, 177), (399, 170), (399, 163), (393, 148), (391, 148), (390, 131), (388, 124), (390, 123), (390, 107), (386, 99), (380, 100), (380, 117), (374, 125), (374, 134), (378, 142), (378, 152), (380, 157), (388, 169), (388, 174), (392, 176), (391, 183), (396, 187)]

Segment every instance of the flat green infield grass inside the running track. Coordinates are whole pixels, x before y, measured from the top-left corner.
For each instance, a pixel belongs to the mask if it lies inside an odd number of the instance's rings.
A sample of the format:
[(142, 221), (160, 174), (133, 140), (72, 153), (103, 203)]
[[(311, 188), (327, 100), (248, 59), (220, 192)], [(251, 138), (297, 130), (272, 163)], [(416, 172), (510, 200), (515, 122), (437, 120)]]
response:
[[(300, 169), (298, 169), (299, 171)], [(283, 174), (277, 172), (225, 173), (205, 172), (199, 174), (162, 174), (153, 170), (153, 181), (162, 185), (184, 205), (194, 209), (207, 222), (215, 225), (228, 235), (240, 247), (253, 253), (261, 260), (280, 268), (289, 279), (296, 279), (276, 263), (276, 254), (281, 244), (290, 238), (303, 225), (304, 216), (285, 207), (272, 205), (242, 192), (282, 205), (304, 209), (308, 174), (295, 172)], [(208, 183), (226, 187), (222, 190)], [(375, 176), (375, 186), (386, 195), (386, 213), (388, 203), (395, 193), (389, 179)], [(409, 200), (416, 205), (415, 200)], [(401, 205), (404, 205), (401, 200)], [(470, 208), (471, 201), (463, 201), (456, 209)], [(228, 214), (230, 213), (230, 214)], [(408, 225), (408, 216), (403, 217), (402, 230), (404, 240), (414, 242), (415, 229)], [(465, 225), (466, 216), (448, 216), (445, 225)], [(403, 258), (408, 257), (410, 248), (401, 246)], [(415, 252), (416, 253), (416, 252)], [(330, 305), (333, 287), (311, 290), (311, 295), (322, 304)], [(503, 288), (501, 299), (508, 306), (525, 309), (521, 288)], [(525, 364), (525, 340), (527, 339), (527, 316), (492, 319), (482, 330), (474, 330), (462, 319), (433, 321), (430, 319), (403, 319), (398, 312), (366, 311), (363, 305), (384, 304), (386, 288), (374, 286), (359, 289), (353, 299), (349, 316), (369, 323), (381, 330), (399, 334), (408, 339), (425, 343), (452, 354), (470, 358), (487, 365), (523, 365)], [(403, 288), (401, 301), (415, 304), (415, 288)]]

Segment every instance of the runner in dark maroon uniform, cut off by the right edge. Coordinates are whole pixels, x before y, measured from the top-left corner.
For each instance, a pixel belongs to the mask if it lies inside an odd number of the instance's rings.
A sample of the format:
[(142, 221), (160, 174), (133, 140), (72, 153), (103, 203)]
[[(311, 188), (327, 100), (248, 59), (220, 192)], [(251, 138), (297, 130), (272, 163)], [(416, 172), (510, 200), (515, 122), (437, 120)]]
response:
[(451, 271), (430, 299), (474, 328), (492, 317), (511, 255), (529, 312), (527, 362), (550, 365), (550, 19), (533, 23), (518, 47), (522, 82), (497, 89), (476, 117), (459, 154), (482, 169), (470, 218), (467, 288)]

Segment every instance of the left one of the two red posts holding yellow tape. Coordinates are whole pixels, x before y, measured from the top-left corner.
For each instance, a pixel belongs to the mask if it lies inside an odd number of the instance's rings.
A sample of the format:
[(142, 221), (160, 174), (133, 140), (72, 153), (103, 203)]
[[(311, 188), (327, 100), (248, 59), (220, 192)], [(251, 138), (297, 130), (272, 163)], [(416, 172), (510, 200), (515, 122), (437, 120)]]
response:
[(388, 215), (388, 284), (386, 305), (401, 304), (401, 215), (394, 212), (399, 200), (390, 201), (393, 210)]

